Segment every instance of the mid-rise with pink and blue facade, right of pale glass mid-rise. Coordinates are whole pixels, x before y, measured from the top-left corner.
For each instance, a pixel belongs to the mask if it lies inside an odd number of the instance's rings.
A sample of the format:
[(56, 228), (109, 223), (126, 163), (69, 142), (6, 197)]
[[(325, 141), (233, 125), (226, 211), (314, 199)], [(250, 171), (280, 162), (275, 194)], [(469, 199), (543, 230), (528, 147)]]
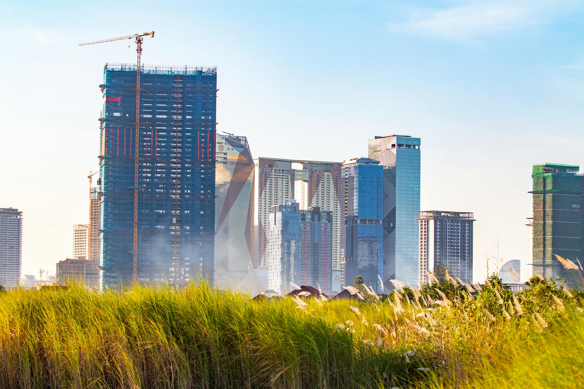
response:
[(311, 206), (300, 211), (300, 274), (298, 285), (332, 292), (333, 212)]

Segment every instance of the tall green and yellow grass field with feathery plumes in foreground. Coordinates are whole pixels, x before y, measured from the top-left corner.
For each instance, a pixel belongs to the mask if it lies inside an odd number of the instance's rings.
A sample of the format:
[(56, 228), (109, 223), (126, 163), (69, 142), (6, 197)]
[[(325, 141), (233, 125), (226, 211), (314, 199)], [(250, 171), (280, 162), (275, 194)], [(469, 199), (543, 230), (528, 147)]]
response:
[[(363, 300), (205, 283), (0, 293), (0, 388), (582, 388), (579, 295), (449, 279)], [(367, 288), (364, 288), (367, 289)]]

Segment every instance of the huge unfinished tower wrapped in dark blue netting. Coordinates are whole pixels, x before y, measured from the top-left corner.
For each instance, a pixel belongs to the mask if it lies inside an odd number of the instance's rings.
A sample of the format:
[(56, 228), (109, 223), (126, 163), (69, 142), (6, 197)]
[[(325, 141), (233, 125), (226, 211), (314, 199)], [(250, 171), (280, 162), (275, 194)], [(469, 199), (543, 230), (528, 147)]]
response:
[[(100, 118), (102, 282), (213, 282), (217, 68), (106, 64)], [(140, 124), (135, 155), (135, 124)]]

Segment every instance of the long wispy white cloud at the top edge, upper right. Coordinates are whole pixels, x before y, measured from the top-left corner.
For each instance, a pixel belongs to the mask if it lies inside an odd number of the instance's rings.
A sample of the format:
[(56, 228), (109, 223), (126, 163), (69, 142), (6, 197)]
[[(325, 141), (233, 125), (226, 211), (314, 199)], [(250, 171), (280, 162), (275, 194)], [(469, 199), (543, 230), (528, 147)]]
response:
[(471, 1), (446, 9), (415, 9), (390, 30), (466, 40), (548, 23), (558, 1)]

